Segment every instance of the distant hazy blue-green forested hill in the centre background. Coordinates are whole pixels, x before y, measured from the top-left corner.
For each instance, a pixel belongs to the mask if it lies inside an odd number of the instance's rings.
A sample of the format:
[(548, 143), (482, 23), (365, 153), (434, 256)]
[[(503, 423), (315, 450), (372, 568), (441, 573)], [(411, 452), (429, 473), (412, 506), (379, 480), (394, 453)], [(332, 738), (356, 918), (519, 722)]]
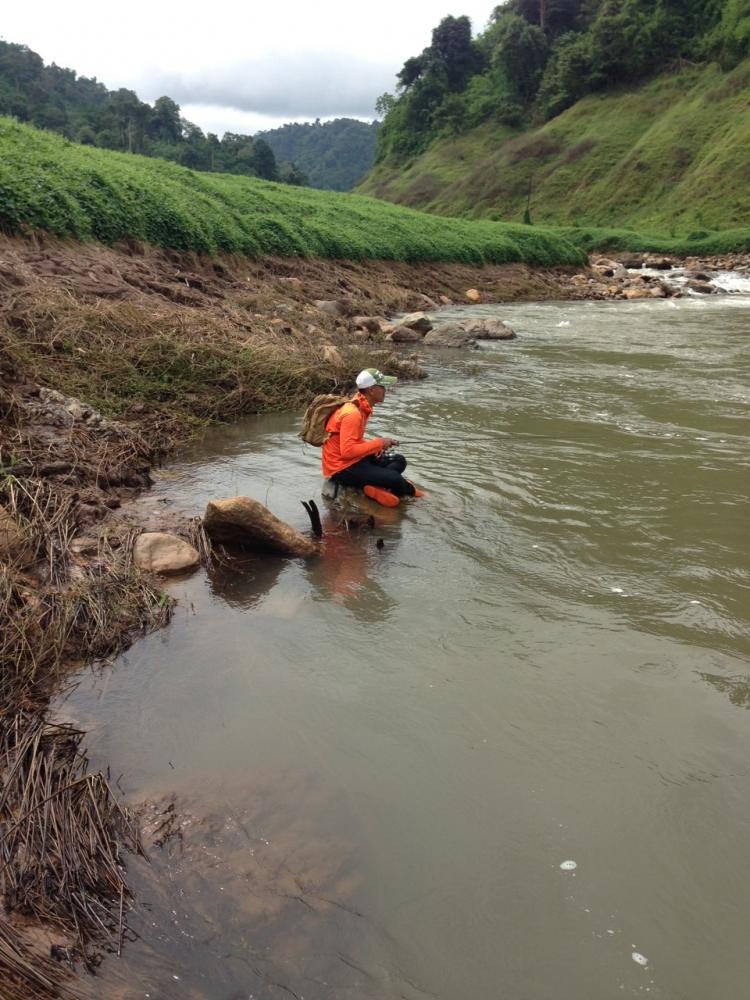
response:
[(351, 191), (375, 160), (379, 122), (336, 118), (321, 123), (290, 124), (257, 132), (278, 160), (295, 163), (312, 187)]

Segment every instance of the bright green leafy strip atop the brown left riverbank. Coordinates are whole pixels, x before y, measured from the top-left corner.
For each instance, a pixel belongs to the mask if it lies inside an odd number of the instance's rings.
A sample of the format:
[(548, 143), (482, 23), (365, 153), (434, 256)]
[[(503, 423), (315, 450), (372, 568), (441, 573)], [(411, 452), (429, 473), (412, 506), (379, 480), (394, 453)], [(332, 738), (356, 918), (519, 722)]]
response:
[(247, 256), (579, 263), (560, 233), (443, 219), (357, 195), (197, 173), (0, 118), (0, 226)]

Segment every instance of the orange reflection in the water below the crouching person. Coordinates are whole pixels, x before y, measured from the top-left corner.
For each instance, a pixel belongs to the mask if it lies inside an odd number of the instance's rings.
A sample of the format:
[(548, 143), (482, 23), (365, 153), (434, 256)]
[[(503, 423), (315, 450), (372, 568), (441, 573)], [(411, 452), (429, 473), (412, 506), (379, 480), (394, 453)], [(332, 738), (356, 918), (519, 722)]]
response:
[[(400, 538), (399, 511), (379, 508), (374, 518), (361, 511), (329, 511), (322, 522), (320, 558), (307, 564), (310, 580), (326, 600), (341, 604), (364, 624), (382, 623), (396, 602), (375, 577)], [(378, 548), (381, 538), (383, 547)]]

